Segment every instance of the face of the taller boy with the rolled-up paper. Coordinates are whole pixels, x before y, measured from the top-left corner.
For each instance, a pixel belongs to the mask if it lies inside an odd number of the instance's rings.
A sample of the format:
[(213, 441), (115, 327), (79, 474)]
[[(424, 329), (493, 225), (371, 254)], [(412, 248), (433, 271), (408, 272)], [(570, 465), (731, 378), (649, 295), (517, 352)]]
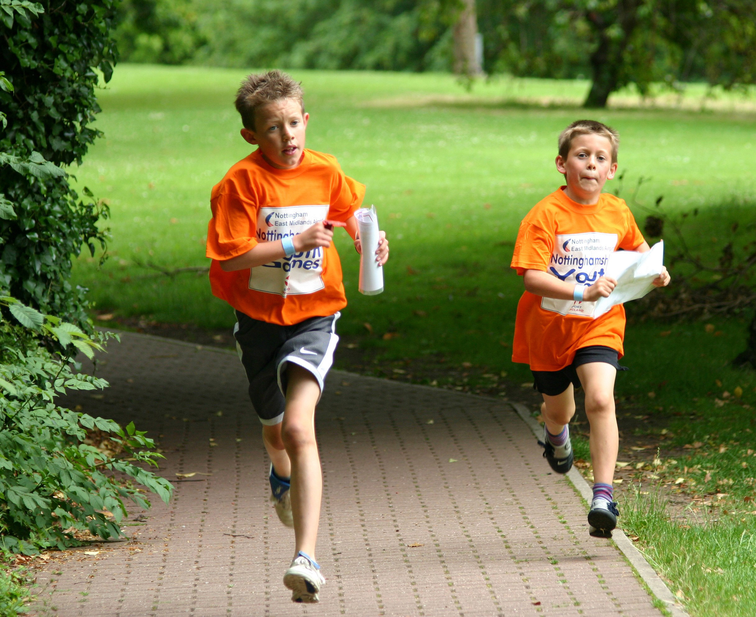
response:
[(293, 169), (302, 160), (309, 117), (299, 101), (282, 98), (255, 110), (255, 130), (241, 129), (241, 136), (259, 146), (272, 166)]

